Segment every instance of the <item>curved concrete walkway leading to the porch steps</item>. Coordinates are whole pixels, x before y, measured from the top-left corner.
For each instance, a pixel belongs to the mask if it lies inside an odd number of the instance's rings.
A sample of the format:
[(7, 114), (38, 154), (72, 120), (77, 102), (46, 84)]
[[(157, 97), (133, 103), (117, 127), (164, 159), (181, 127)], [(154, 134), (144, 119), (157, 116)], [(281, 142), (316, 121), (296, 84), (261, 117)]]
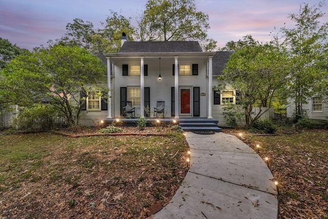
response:
[(254, 150), (222, 132), (186, 138), (189, 172), (154, 218), (278, 218), (272, 173)]

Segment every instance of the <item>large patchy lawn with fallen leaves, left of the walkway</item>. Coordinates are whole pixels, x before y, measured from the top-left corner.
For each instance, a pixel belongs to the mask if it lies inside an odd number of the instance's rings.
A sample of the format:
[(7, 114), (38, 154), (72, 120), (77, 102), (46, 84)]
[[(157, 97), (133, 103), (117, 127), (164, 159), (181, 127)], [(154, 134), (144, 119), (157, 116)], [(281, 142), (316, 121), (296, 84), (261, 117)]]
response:
[(187, 171), (181, 133), (0, 136), (1, 218), (145, 218)]

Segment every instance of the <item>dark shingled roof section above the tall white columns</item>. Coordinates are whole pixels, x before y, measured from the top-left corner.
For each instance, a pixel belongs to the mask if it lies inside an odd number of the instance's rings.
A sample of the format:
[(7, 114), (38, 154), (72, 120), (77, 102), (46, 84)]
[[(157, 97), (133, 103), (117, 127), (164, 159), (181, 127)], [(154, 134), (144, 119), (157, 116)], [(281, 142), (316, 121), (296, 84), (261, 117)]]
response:
[(197, 41), (125, 42), (118, 53), (202, 52)]

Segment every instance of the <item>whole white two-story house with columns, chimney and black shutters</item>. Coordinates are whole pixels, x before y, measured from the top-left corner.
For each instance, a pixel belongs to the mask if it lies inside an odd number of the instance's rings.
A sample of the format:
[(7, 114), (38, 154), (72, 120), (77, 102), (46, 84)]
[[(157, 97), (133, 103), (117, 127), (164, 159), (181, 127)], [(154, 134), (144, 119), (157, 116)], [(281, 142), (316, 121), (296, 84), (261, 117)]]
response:
[(231, 53), (203, 52), (198, 42), (129, 42), (123, 34), (119, 52), (97, 54), (107, 64), (111, 98), (106, 103), (86, 91), (86, 114), (80, 123), (122, 118), (128, 101), (135, 108), (133, 117), (156, 116), (154, 108), (162, 102), (161, 117), (180, 122), (203, 118), (216, 127), (225, 125), (222, 103), (235, 103), (235, 91), (217, 94), (213, 86), (218, 85), (217, 76)]

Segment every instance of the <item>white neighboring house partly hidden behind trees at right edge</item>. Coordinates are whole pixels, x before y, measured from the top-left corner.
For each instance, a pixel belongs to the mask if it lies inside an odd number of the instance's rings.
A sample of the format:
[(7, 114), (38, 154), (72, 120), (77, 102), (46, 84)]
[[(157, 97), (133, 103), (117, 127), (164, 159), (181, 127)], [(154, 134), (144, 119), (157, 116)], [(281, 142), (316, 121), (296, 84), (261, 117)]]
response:
[[(307, 104), (302, 105), (304, 114), (313, 120), (328, 120), (328, 98), (322, 96), (313, 96), (307, 99)], [(287, 117), (293, 118), (295, 115), (295, 105), (290, 100), (290, 105), (287, 106)]]

